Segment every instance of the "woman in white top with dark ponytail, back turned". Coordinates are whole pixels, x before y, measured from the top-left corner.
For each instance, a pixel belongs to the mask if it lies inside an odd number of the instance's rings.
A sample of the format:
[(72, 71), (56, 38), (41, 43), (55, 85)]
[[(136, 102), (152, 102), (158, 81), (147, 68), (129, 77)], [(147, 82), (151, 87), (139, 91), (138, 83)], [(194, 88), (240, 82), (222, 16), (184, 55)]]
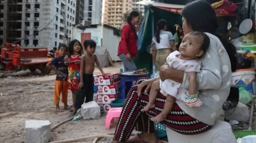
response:
[(176, 50), (173, 34), (165, 31), (167, 22), (163, 19), (158, 20), (155, 36), (152, 39), (152, 60), (157, 71), (166, 63), (166, 57)]

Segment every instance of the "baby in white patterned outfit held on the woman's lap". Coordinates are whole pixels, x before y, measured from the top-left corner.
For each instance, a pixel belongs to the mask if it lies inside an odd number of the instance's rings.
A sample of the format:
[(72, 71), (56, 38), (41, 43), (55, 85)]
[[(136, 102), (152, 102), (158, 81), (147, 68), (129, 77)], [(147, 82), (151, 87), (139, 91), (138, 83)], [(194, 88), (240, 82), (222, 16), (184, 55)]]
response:
[(171, 112), (175, 100), (183, 101), (189, 107), (199, 107), (202, 102), (197, 97), (197, 72), (200, 72), (201, 64), (196, 61), (201, 58), (210, 44), (209, 37), (198, 31), (190, 32), (185, 35), (180, 44), (179, 51), (172, 52), (166, 61), (172, 69), (182, 70), (187, 73), (189, 80), (189, 90), (184, 89), (180, 83), (171, 79), (164, 81), (157, 80), (152, 83), (149, 103), (142, 109), (143, 112), (154, 108), (156, 96), (160, 90), (166, 97), (163, 111), (156, 117), (151, 118), (155, 123), (159, 123), (166, 119), (166, 116)]

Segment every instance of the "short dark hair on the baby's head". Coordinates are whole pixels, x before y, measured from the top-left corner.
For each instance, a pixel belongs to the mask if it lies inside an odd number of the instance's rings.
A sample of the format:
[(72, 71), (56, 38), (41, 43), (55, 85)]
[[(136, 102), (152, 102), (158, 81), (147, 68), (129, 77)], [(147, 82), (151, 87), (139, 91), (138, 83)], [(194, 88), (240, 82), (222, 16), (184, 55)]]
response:
[[(203, 51), (203, 54), (201, 57), (203, 57), (210, 45), (210, 39), (209, 39), (208, 35), (204, 34), (203, 32), (200, 32), (200, 31), (192, 31), (189, 33), (189, 35), (201, 36), (203, 38), (202, 44), (200, 46), (200, 49)], [(198, 57), (198, 58), (201, 58), (201, 57)]]

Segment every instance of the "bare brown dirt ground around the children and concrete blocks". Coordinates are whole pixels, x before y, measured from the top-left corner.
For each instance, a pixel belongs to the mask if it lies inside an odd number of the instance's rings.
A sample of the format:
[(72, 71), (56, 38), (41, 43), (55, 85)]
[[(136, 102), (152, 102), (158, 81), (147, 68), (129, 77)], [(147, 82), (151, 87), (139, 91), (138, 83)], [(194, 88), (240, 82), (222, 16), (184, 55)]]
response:
[[(119, 72), (122, 64), (104, 68), (105, 73)], [(94, 74), (100, 74), (95, 69)], [(19, 143), (24, 139), (26, 120), (49, 120), (55, 125), (68, 118), (69, 111), (55, 113), (53, 104), (55, 75), (7, 77), (0, 79), (0, 142)], [(72, 104), (71, 93), (68, 95)], [(63, 106), (61, 103), (60, 106)], [(105, 115), (99, 119), (69, 121), (52, 131), (50, 141), (78, 138), (87, 135), (104, 134)], [(90, 143), (88, 140), (84, 143)], [(104, 141), (104, 140), (102, 140)]]

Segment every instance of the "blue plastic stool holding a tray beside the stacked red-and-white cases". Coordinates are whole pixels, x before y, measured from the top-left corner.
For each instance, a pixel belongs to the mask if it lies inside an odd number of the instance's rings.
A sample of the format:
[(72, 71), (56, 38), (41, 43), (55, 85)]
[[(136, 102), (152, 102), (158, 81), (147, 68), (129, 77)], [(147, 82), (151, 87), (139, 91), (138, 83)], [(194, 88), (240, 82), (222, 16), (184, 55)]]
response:
[[(126, 99), (126, 94), (125, 94), (125, 82), (133, 82), (137, 81), (138, 78), (140, 77), (145, 77), (145, 76), (121, 76), (121, 99)], [(130, 89), (129, 89), (130, 90)]]

